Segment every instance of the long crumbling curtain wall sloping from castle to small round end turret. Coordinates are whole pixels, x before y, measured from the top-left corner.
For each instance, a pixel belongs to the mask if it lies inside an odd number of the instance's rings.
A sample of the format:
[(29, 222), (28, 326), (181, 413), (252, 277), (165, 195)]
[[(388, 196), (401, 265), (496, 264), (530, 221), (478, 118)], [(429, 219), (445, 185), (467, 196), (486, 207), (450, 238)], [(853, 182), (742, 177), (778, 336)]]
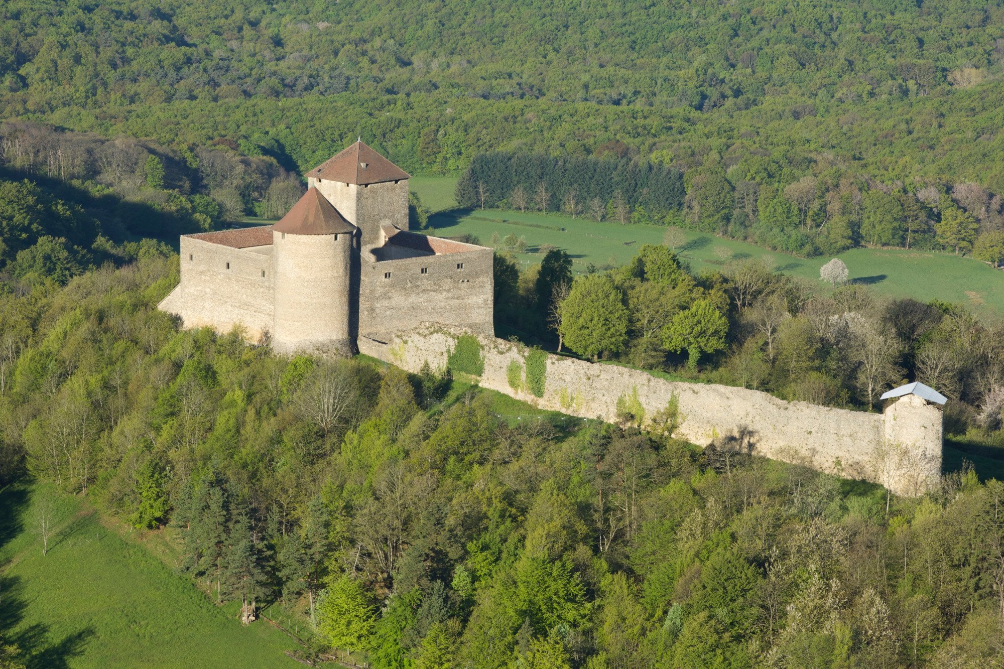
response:
[[(360, 353), (418, 373), (426, 362), (434, 370), (445, 369), (462, 333), (457, 327), (423, 323), (387, 344), (360, 337), (358, 345)], [(676, 396), (680, 426), (674, 436), (700, 446), (734, 437), (756, 455), (881, 483), (905, 495), (920, 494), (941, 474), (941, 411), (916, 396), (894, 403), (886, 414), (871, 414), (547, 355), (544, 392), (536, 397), (509, 384), (508, 370), (515, 361), (523, 368), (525, 386), (525, 347), (484, 334), (477, 339), (484, 358), (480, 385), (541, 409), (616, 422), (620, 399), (641, 406), (649, 422)]]

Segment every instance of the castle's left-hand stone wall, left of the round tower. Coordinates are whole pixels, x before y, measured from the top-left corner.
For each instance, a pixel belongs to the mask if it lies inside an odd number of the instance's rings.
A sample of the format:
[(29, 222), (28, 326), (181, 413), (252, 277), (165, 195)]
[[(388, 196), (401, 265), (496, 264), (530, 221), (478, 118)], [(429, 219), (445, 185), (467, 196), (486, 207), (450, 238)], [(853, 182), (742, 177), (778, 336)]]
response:
[[(181, 238), (181, 282), (160, 308), (186, 327), (221, 332), (243, 326), (257, 342), (272, 328), (272, 256), (192, 237)], [(227, 263), (230, 268), (227, 268)]]

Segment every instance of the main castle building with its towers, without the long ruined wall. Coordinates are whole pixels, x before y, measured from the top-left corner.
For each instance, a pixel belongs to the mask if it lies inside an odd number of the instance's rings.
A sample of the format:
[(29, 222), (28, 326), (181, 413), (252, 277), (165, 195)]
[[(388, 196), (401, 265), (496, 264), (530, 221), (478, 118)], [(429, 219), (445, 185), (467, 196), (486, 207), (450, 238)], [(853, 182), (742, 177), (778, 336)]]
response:
[(351, 355), (424, 321), (491, 336), (492, 249), (410, 232), (409, 178), (356, 142), (275, 225), (183, 236), (161, 308), (279, 353)]

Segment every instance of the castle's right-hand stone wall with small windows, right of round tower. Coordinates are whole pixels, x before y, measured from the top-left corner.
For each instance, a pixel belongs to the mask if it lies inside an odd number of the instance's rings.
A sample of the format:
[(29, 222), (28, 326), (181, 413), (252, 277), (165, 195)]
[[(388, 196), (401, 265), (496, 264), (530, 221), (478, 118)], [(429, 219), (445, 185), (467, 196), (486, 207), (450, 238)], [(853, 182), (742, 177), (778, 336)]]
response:
[[(492, 336), (492, 262), (491, 249), (379, 262), (363, 260), (359, 334), (386, 342), (393, 332), (436, 320)], [(386, 278), (388, 273), (390, 278)]]

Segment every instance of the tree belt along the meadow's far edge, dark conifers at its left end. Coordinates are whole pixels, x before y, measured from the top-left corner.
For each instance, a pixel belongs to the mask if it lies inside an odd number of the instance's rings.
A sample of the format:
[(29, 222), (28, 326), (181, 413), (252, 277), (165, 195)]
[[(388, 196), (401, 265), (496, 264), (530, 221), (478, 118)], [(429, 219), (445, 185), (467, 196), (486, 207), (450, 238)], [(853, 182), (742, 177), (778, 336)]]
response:
[[(470, 209), (677, 225), (798, 255), (898, 246), (973, 252), (995, 267), (1004, 260), (1004, 200), (976, 183), (887, 185), (824, 161), (795, 170), (738, 145), (734, 150), (686, 175), (608, 154), (489, 153), (476, 156), (461, 175), (456, 198)], [(665, 160), (658, 152), (652, 158)], [(809, 174), (799, 178), (803, 172)]]

